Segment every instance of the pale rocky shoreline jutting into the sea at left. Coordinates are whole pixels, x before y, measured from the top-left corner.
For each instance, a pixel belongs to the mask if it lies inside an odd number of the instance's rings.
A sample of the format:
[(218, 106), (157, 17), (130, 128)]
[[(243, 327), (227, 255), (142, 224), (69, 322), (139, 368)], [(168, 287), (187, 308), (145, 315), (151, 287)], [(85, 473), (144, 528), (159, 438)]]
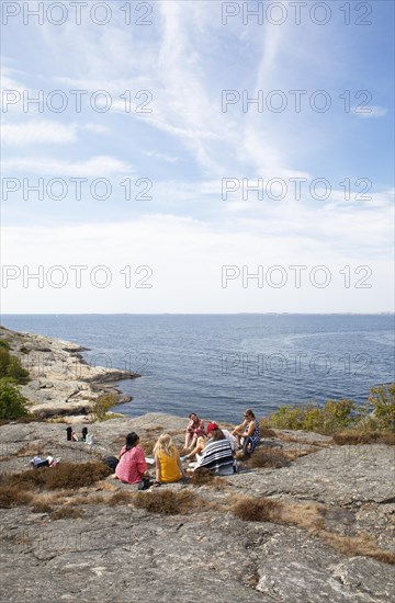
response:
[(42, 419), (67, 416), (72, 421), (82, 420), (91, 409), (91, 401), (101, 394), (111, 392), (116, 403), (132, 400), (114, 385), (122, 379), (140, 375), (90, 366), (81, 352), (88, 348), (33, 333), (19, 333), (0, 327), (0, 339), (8, 341), (10, 352), (16, 355), (30, 373), (31, 380), (21, 386), (27, 398), (29, 410)]

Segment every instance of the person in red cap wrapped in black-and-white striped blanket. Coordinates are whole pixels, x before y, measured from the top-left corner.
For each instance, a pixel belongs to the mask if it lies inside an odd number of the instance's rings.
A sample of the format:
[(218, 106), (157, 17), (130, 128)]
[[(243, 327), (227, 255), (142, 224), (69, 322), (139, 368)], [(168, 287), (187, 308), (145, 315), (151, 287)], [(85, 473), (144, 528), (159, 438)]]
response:
[(205, 467), (214, 475), (233, 475), (237, 471), (232, 446), (216, 423), (207, 425), (208, 441), (194, 470)]

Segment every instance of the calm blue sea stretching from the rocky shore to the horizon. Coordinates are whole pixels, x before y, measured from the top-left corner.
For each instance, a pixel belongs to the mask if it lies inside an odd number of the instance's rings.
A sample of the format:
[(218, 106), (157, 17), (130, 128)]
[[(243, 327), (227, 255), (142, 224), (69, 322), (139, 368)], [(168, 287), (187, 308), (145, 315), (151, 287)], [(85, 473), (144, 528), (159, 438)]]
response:
[(3, 315), (2, 325), (90, 348), (90, 364), (140, 373), (121, 382), (122, 412), (238, 421), (279, 405), (368, 399), (394, 380), (390, 315)]

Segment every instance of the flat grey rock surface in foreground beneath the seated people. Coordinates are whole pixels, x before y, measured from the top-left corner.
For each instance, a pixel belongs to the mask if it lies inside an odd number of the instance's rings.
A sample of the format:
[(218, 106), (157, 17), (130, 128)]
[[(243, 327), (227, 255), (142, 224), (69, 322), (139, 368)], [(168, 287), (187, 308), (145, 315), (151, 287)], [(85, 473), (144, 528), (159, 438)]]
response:
[[(94, 444), (67, 442), (65, 423), (8, 424), (0, 428), (2, 471), (29, 467), (41, 452), (75, 463), (117, 455), (129, 431), (143, 446), (162, 432), (182, 445), (188, 419), (150, 413), (82, 424)], [(330, 439), (305, 432), (275, 432), (263, 444), (300, 456), (282, 468), (248, 469), (222, 478), (221, 488), (187, 485), (202, 504), (185, 514), (160, 515), (123, 501), (111, 507), (89, 497), (135, 487), (111, 477), (100, 488), (77, 491), (65, 507), (80, 519), (52, 520), (31, 505), (2, 509), (1, 601), (45, 600), (134, 603), (218, 602), (381, 603), (392, 601), (394, 568), (356, 553), (353, 538), (369, 535), (382, 550), (394, 550), (394, 450), (385, 445), (335, 446)], [(45, 469), (53, 470), (53, 469)], [(78, 470), (76, 468), (76, 470)], [(143, 496), (153, 496), (145, 492)], [(269, 497), (295, 505), (325, 509), (325, 527), (346, 537), (339, 549), (307, 528), (247, 522), (234, 515), (234, 497)], [(81, 500), (84, 500), (84, 503)], [(228, 502), (229, 501), (229, 502)], [(343, 542), (343, 541), (342, 541)]]

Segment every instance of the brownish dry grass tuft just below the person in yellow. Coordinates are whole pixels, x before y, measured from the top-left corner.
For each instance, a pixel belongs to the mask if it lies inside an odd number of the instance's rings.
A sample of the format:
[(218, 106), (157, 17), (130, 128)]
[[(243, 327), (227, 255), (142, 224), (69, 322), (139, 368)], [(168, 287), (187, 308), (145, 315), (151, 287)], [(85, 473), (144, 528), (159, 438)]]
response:
[(133, 503), (137, 509), (145, 509), (149, 513), (177, 515), (195, 510), (198, 501), (195, 494), (189, 490), (177, 492), (174, 490), (156, 489), (148, 492), (137, 492)]

